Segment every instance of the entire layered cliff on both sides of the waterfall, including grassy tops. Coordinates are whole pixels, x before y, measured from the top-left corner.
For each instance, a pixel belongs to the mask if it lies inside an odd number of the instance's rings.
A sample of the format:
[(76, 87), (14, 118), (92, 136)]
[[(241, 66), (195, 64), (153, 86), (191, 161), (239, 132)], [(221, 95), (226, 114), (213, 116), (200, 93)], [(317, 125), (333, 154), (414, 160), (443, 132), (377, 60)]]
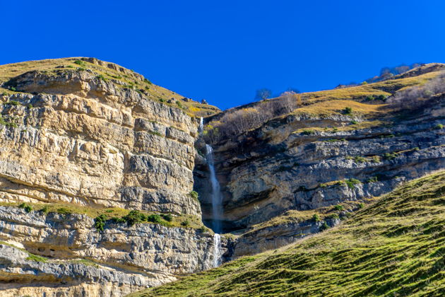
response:
[(361, 220), (444, 169), (444, 68), (220, 111), (94, 58), (0, 66), (2, 296), (124, 296)]

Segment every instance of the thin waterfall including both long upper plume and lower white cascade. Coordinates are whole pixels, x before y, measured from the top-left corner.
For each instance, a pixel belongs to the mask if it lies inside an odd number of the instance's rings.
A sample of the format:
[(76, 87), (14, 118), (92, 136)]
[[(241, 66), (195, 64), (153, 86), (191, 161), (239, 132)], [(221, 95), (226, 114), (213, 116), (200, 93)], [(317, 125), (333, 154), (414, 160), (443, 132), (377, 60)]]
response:
[(220, 183), (216, 178), (215, 161), (213, 160), (213, 149), (206, 144), (206, 159), (208, 163), (208, 170), (210, 172), (210, 184), (212, 186), (212, 216), (213, 216), (213, 267), (218, 267), (221, 264), (221, 219), (223, 218), (223, 206), (221, 201)]

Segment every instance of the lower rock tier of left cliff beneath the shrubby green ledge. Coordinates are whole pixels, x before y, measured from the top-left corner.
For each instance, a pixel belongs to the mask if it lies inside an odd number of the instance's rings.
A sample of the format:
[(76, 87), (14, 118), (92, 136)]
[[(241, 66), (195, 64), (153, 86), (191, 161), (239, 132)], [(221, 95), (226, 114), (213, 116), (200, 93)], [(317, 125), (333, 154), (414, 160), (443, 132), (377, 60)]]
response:
[[(95, 292), (91, 296), (121, 296), (213, 267), (211, 233), (149, 223), (109, 223), (102, 232), (93, 226), (93, 219), (85, 215), (27, 213), (0, 206), (0, 240), (26, 250), (11, 252), (0, 245), (0, 280), (13, 283), (0, 286), (11, 294), (59, 296), (54, 288), (62, 284), (71, 292), (63, 296), (79, 296), (82, 290)], [(28, 253), (49, 260), (26, 260)]]

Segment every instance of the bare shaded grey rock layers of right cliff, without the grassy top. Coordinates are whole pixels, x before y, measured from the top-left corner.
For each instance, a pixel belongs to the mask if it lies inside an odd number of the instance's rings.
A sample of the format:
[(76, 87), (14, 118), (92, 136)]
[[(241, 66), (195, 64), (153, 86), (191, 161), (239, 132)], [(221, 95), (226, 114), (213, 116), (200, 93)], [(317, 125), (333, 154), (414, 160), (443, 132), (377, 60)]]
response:
[[(255, 227), (286, 211), (358, 203), (443, 169), (444, 115), (445, 95), (441, 95), (391, 124), (336, 131), (334, 127), (346, 127), (357, 119), (286, 115), (213, 144), (225, 229), (241, 233), (235, 257), (279, 248), (319, 231), (320, 224), (312, 220)], [(313, 127), (319, 129), (295, 132)], [(195, 188), (202, 190), (204, 219), (210, 217), (206, 179), (205, 164), (196, 162)]]

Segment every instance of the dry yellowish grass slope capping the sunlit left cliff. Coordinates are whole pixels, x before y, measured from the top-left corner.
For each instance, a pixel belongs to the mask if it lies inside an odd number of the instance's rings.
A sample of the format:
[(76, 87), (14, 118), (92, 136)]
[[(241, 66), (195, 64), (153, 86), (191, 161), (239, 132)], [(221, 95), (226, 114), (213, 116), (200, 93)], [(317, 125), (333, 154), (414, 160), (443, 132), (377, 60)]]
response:
[[(105, 80), (113, 81), (121, 88), (133, 88), (139, 93), (146, 94), (148, 98), (159, 100), (167, 105), (180, 107), (190, 115), (203, 117), (219, 112), (218, 107), (203, 105), (193, 100), (183, 100), (184, 96), (174, 93), (161, 86), (156, 86), (147, 78), (136, 72), (125, 69), (114, 63), (103, 62), (95, 58), (72, 57), (63, 59), (45, 59), (38, 61), (20, 62), (0, 65), (0, 95), (18, 93), (11, 88), (2, 86), (11, 78), (28, 71), (42, 71), (47, 74), (57, 74), (59, 71), (85, 71), (90, 69)], [(174, 99), (175, 103), (168, 103)]]

